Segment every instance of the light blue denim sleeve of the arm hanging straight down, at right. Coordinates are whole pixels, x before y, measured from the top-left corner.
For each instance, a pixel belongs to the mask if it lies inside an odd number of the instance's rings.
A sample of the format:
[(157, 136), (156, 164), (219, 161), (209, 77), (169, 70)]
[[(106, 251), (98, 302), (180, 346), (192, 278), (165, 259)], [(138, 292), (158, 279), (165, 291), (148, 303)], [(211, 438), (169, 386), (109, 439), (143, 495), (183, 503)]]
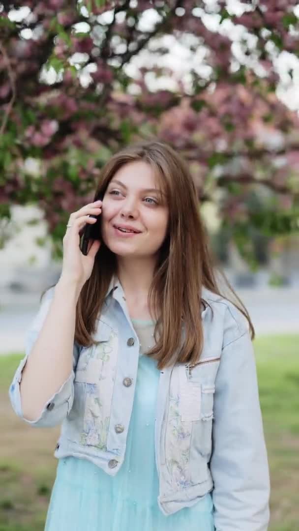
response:
[(215, 529), (267, 531), (269, 467), (254, 351), (249, 330), (230, 322), (214, 402), (210, 470)]

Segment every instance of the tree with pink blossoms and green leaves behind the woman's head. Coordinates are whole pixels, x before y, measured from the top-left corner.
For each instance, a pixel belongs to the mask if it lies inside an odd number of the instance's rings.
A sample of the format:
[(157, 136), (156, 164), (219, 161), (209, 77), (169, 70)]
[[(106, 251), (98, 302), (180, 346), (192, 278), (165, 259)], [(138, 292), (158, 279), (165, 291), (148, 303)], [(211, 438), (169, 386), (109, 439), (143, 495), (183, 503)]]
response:
[(189, 161), (200, 204), (216, 203), (247, 260), (252, 230), (297, 230), (298, 116), (277, 97), (281, 54), (299, 54), (296, 2), (231, 4), (0, 3), (2, 219), (38, 204), (61, 254), (105, 161), (156, 137)]

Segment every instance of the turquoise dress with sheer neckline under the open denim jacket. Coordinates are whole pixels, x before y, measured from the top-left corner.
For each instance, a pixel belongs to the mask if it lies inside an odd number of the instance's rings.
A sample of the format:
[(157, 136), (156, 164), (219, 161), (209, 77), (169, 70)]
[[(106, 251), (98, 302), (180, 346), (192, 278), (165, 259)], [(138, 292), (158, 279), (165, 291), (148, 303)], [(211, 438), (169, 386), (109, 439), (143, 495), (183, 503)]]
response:
[(173, 515), (165, 516), (158, 507), (154, 421), (159, 371), (157, 362), (144, 355), (152, 345), (154, 323), (132, 322), (141, 347), (124, 463), (116, 476), (109, 476), (86, 459), (59, 459), (45, 531), (215, 531), (210, 493)]

